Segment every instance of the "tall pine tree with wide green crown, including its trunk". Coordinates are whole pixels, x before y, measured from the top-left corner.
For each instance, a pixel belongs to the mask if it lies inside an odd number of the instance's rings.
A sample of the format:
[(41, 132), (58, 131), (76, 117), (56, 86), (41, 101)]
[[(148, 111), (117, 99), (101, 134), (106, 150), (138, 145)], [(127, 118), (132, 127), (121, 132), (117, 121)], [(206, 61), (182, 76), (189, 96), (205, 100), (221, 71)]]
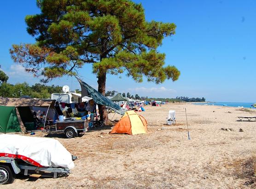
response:
[[(164, 37), (175, 34), (174, 23), (145, 20), (141, 4), (131, 0), (37, 0), (40, 14), (25, 18), (35, 44), (13, 45), (12, 59), (43, 81), (74, 75), (93, 64), (98, 91), (105, 95), (106, 74), (122, 74), (142, 82), (177, 80), (175, 66), (165, 66), (157, 52)], [(43, 69), (42, 69), (43, 68)], [(99, 106), (107, 119), (105, 106)]]

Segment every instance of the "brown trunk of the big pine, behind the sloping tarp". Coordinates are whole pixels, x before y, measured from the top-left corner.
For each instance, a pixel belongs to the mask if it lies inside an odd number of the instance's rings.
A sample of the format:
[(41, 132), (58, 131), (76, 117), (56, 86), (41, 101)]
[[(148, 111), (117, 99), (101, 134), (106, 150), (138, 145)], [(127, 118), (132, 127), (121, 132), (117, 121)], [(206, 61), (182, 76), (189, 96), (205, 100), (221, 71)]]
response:
[[(105, 96), (105, 89), (106, 89), (106, 72), (105, 70), (99, 69), (98, 74), (98, 92)], [(108, 120), (108, 112), (105, 105), (99, 105), (99, 116), (100, 120), (104, 121), (105, 123)]]

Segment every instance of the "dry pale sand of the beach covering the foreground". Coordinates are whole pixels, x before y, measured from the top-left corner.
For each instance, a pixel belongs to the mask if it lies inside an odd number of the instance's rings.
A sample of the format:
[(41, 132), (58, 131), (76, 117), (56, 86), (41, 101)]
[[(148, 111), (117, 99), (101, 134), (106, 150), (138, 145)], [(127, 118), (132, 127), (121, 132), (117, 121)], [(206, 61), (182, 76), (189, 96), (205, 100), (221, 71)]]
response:
[[(185, 107), (191, 140), (187, 139)], [(172, 126), (165, 125), (169, 109), (176, 110), (177, 124)], [(78, 156), (72, 173), (57, 179), (19, 176), (0, 188), (256, 187), (251, 177), (256, 122), (236, 121), (237, 116), (256, 116), (255, 110), (189, 103), (146, 106), (145, 110), (140, 114), (148, 121), (148, 134), (98, 137), (111, 131), (111, 126), (105, 126), (71, 139), (52, 136)], [(43, 137), (41, 132), (38, 136)]]

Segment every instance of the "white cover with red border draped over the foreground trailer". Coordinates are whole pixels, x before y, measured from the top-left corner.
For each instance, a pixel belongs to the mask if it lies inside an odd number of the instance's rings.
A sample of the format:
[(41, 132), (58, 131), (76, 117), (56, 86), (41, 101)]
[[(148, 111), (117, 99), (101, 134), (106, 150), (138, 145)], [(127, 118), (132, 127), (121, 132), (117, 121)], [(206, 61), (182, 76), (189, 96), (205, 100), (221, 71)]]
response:
[(75, 166), (70, 152), (52, 138), (0, 134), (0, 156), (22, 159), (38, 167)]

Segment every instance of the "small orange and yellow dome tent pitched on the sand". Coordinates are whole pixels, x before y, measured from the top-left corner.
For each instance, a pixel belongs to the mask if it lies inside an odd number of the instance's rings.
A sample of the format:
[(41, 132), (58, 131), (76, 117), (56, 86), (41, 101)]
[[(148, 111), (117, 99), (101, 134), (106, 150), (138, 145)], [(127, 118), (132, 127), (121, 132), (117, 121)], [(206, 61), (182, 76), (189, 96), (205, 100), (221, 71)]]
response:
[(124, 116), (118, 121), (110, 134), (126, 133), (129, 135), (147, 133), (147, 121), (134, 110), (125, 112)]

